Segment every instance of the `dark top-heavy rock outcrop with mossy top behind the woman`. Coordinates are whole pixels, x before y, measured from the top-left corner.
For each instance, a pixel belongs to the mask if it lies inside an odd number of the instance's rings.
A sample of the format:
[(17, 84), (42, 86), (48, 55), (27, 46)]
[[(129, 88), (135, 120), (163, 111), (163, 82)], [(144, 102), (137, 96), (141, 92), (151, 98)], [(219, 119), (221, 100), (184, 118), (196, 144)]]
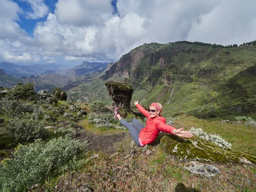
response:
[(108, 81), (105, 83), (109, 95), (113, 99), (113, 105), (128, 110), (130, 108), (133, 87), (131, 84), (119, 81)]

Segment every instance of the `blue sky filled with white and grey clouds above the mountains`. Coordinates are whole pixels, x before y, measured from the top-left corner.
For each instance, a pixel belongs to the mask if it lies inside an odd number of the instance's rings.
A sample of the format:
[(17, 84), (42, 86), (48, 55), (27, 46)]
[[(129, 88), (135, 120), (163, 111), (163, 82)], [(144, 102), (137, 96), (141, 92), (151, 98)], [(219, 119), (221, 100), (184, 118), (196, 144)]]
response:
[(254, 0), (0, 0), (0, 62), (112, 62), (144, 43), (256, 40)]

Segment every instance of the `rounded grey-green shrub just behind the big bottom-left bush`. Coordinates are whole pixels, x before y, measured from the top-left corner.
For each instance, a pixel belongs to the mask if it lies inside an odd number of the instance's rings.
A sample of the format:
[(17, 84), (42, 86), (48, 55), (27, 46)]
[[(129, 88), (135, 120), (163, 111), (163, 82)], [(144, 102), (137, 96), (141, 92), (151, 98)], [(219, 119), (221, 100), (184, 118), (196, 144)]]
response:
[(35, 119), (12, 119), (6, 129), (10, 136), (23, 142), (43, 138), (47, 135), (43, 123)]

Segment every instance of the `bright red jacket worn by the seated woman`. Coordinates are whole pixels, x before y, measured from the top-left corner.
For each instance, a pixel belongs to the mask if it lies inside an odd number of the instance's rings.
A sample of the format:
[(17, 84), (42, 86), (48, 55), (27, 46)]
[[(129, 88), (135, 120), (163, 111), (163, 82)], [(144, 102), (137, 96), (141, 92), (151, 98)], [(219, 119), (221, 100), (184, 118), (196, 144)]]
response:
[(160, 131), (173, 134), (172, 131), (176, 128), (171, 125), (165, 124), (166, 118), (163, 116), (158, 116), (151, 119), (149, 112), (146, 111), (140, 104), (137, 104), (136, 107), (143, 113), (147, 118), (146, 127), (140, 131), (139, 138), (143, 145), (153, 143)]

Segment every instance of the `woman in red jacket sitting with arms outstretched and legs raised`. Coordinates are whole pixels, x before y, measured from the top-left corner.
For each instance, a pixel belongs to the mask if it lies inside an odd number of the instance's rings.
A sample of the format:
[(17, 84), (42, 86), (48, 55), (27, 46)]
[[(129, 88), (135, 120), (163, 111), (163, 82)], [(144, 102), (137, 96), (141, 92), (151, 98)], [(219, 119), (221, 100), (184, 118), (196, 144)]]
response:
[(182, 131), (183, 128), (176, 129), (171, 125), (166, 124), (166, 118), (161, 116), (162, 105), (160, 103), (152, 103), (146, 111), (140, 104), (139, 100), (134, 102), (134, 105), (143, 113), (147, 118), (146, 127), (137, 119), (132, 119), (132, 125), (126, 122), (119, 114), (118, 108), (114, 110), (114, 117), (119, 119), (120, 123), (124, 125), (130, 131), (131, 137), (135, 143), (141, 147), (146, 144), (153, 143), (160, 131), (177, 135), (179, 137), (193, 137), (189, 131)]

